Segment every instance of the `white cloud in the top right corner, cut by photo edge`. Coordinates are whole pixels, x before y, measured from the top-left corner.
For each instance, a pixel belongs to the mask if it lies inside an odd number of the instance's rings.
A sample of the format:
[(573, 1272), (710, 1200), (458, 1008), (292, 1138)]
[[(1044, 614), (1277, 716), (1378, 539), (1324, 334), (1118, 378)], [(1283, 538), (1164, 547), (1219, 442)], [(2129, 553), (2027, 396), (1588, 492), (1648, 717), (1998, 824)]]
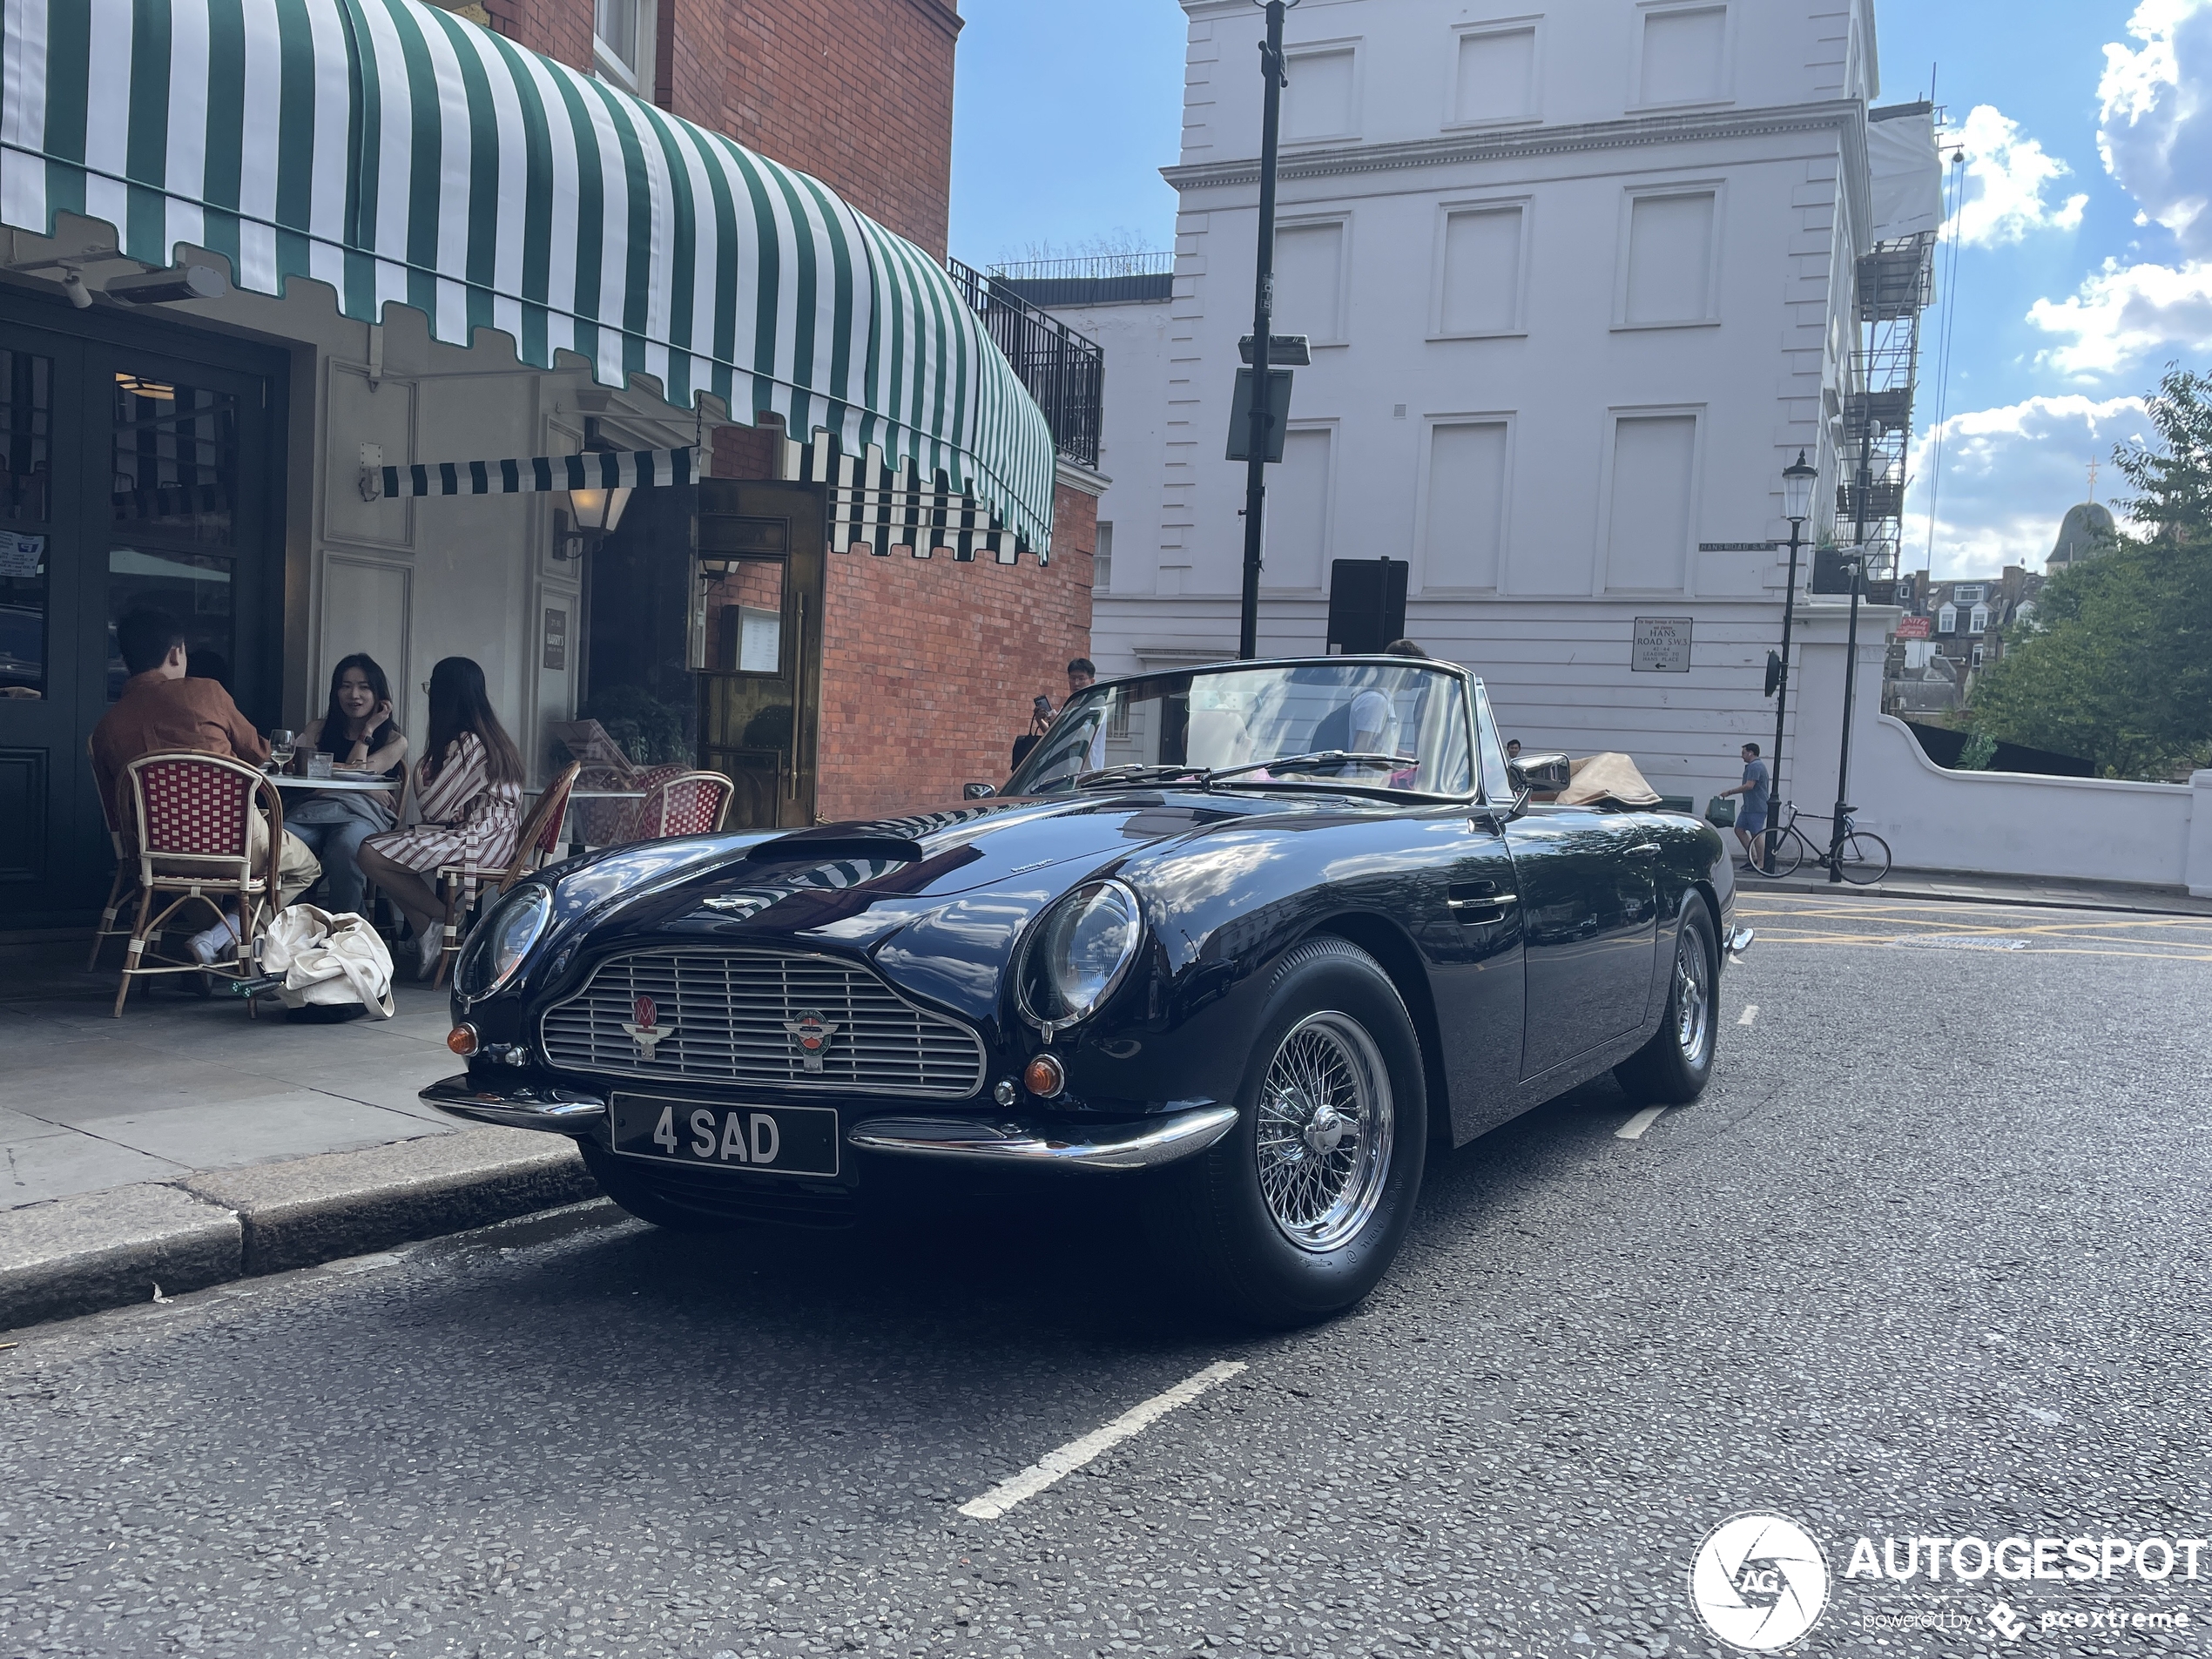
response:
[(2141, 0), (2137, 46), (2104, 49), (2097, 153), (2104, 170), (2188, 254), (2212, 254), (2212, 0)]

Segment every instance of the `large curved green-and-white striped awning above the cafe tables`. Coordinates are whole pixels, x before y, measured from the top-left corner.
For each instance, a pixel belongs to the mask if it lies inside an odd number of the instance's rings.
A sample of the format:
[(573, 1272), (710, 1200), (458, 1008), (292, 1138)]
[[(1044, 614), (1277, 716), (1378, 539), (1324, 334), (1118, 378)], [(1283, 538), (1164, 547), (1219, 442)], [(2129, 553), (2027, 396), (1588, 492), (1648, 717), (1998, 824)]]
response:
[(0, 221), (577, 352), (883, 449), (1048, 546), (1053, 436), (920, 248), (821, 181), (416, 0), (4, 0)]

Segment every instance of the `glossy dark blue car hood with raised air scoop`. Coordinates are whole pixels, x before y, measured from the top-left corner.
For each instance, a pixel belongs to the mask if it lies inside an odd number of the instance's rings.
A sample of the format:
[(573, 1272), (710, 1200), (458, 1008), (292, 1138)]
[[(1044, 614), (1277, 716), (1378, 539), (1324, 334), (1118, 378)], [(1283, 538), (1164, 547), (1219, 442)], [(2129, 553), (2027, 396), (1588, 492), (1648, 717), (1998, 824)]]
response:
[(743, 940), (858, 951), (909, 995), (993, 1020), (1022, 929), (1088, 876), (1252, 816), (1312, 810), (1303, 799), (1130, 790), (646, 843), (557, 880), (566, 940), (549, 951), (549, 978), (580, 949), (599, 958)]

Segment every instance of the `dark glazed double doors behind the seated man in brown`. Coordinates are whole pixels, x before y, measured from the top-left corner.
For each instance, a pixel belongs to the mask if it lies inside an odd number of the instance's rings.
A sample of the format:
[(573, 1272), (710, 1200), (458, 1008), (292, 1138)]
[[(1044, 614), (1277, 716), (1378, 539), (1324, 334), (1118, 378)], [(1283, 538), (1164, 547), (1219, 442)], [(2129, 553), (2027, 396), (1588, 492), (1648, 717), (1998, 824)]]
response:
[(106, 894), (86, 739), (126, 679), (117, 619), (173, 613), (263, 730), (281, 699), (279, 358), (53, 310), (0, 299), (0, 929)]

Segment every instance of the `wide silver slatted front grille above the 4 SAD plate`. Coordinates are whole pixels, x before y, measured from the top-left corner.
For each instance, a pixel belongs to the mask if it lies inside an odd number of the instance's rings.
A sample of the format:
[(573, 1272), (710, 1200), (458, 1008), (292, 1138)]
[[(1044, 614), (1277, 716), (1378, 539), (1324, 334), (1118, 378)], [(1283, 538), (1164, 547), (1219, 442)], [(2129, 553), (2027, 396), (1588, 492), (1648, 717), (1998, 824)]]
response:
[[(653, 1002), (644, 1040), (639, 1000)], [(801, 1033), (827, 1031), (821, 1071)], [(653, 1033), (666, 1033), (650, 1042)], [(982, 1040), (900, 998), (874, 971), (830, 956), (781, 951), (635, 951), (613, 956), (538, 1026), (560, 1071), (796, 1088), (849, 1095), (964, 1099), (982, 1088)]]

